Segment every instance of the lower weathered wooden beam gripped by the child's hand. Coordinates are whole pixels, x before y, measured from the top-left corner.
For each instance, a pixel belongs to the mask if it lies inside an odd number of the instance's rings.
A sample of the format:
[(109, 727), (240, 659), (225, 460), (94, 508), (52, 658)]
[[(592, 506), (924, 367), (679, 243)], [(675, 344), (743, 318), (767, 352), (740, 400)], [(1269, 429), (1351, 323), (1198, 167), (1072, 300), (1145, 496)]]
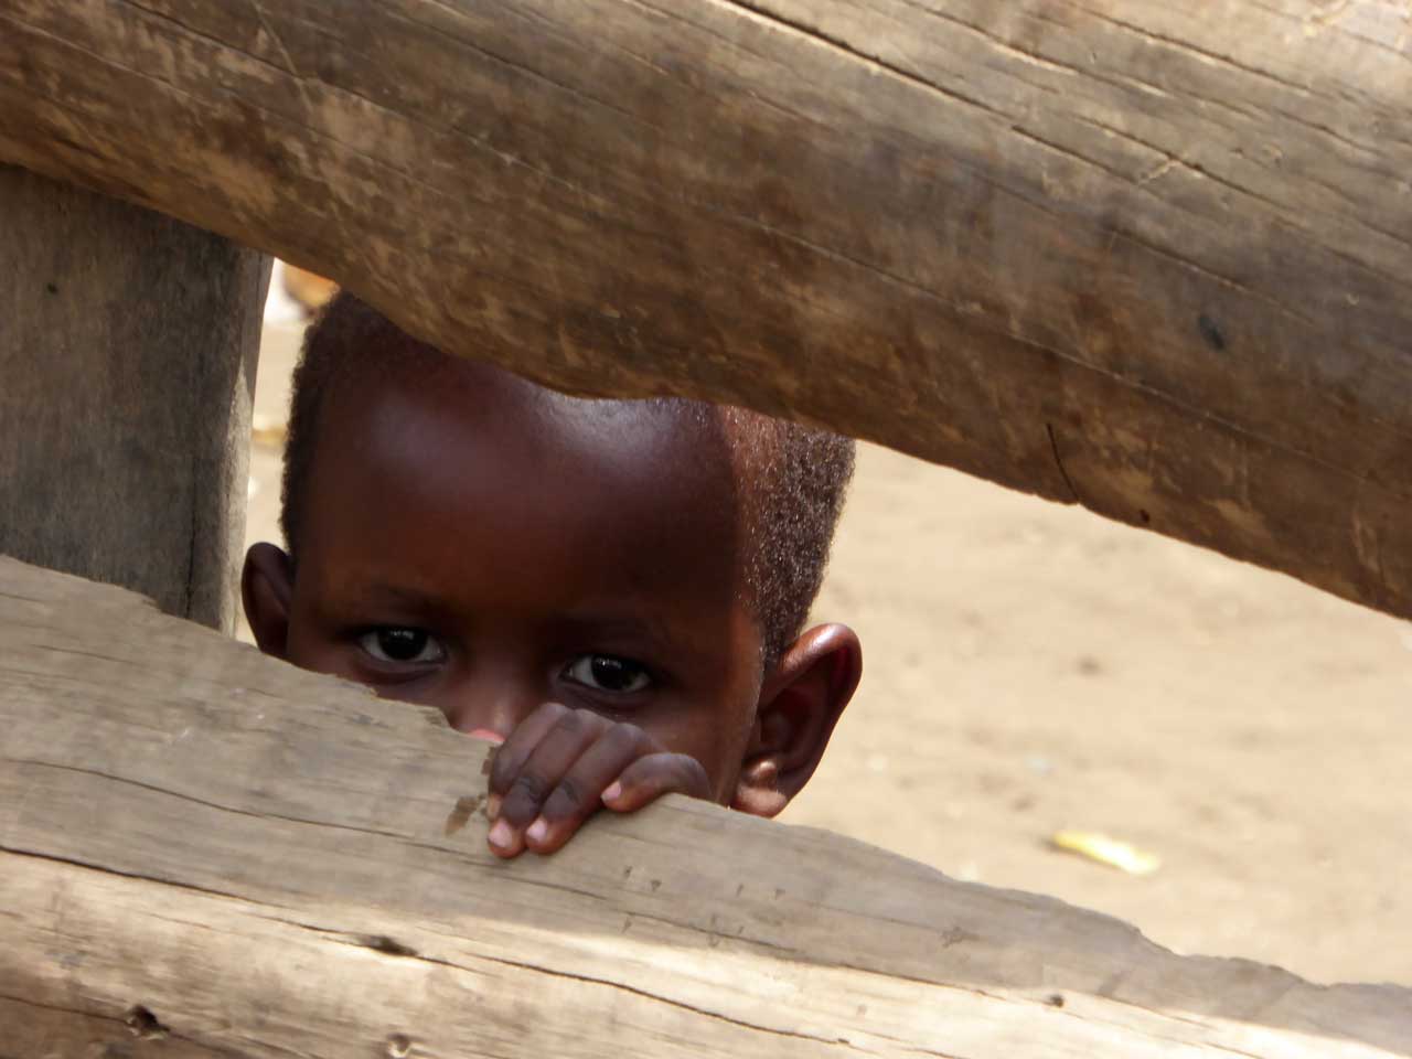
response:
[(0, 559), (0, 1055), (1412, 1055), (1406, 990), (699, 802), (505, 864), (484, 753)]

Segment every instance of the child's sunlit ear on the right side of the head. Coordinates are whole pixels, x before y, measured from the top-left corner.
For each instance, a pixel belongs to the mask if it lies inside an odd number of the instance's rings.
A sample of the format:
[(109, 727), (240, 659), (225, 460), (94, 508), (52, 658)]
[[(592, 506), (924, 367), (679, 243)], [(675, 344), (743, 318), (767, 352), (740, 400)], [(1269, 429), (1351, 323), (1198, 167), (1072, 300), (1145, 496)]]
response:
[(847, 626), (818, 626), (765, 678), (731, 808), (775, 816), (819, 767), (833, 726), (863, 675), (863, 647)]

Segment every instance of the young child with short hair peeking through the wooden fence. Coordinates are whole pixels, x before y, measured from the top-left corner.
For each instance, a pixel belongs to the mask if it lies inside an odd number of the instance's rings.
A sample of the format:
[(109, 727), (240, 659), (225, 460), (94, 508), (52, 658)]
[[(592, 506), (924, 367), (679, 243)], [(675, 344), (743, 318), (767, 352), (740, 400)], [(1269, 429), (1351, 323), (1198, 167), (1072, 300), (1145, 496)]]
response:
[(858, 682), (801, 631), (853, 443), (741, 409), (587, 401), (418, 343), (340, 295), (294, 377), (288, 554), (260, 650), (503, 743), (490, 846), (559, 849), (675, 791), (774, 816)]

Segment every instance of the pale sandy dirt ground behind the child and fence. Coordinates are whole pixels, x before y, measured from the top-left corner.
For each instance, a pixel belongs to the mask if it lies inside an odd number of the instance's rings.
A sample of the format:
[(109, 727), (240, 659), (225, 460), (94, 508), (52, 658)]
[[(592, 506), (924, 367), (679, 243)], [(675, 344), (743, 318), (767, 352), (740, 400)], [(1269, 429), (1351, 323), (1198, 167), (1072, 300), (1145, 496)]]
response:
[[(267, 421), (298, 337), (267, 326)], [(250, 541), (280, 539), (278, 472), (257, 442)], [(1180, 952), (1412, 986), (1412, 627), (877, 448), (818, 614), (866, 674), (785, 820)], [(1060, 829), (1161, 867), (1062, 853)]]

